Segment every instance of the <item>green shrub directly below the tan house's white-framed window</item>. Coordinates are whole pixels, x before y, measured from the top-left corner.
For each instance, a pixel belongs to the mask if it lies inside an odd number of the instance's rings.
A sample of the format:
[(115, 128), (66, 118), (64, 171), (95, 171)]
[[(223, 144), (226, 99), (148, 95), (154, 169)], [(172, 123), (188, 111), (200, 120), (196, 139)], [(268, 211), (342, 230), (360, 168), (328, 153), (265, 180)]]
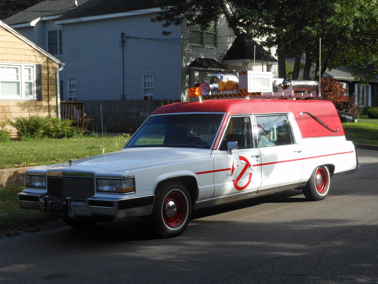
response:
[(8, 123), (17, 130), (20, 137), (42, 137), (42, 129), (45, 125), (45, 118), (39, 115), (29, 115), (28, 117), (16, 117), (8, 120)]

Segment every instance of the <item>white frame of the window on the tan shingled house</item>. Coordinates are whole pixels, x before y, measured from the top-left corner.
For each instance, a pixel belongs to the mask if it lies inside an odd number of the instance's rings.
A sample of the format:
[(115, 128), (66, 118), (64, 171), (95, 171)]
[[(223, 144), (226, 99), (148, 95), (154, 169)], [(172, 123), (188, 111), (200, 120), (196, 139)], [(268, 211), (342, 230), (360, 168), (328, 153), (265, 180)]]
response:
[[(23, 63), (9, 63), (0, 62), (1, 67), (19, 67), (19, 84), (20, 84), (20, 94), (18, 96), (7, 96), (1, 94), (1, 77), (0, 77), (0, 101), (17, 101), (17, 100), (37, 100), (37, 74), (36, 74), (36, 64), (23, 64)], [(25, 80), (24, 72), (25, 67), (31, 68), (32, 78), (31, 81)], [(32, 95), (25, 95), (25, 82), (32, 82)]]

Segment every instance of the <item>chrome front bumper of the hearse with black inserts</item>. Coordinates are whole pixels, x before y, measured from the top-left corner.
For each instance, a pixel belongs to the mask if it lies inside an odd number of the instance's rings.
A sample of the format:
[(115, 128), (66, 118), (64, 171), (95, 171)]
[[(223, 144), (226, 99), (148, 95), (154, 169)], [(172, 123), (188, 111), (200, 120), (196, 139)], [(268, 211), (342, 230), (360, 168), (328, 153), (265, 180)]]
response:
[(150, 215), (155, 195), (132, 197), (126, 199), (88, 198), (87, 201), (75, 201), (72, 197), (65, 200), (53, 199), (48, 195), (36, 193), (19, 193), (20, 207), (35, 209), (54, 215), (51, 212), (51, 203), (62, 204), (64, 215), (68, 217), (107, 216), (107, 217), (138, 217)]

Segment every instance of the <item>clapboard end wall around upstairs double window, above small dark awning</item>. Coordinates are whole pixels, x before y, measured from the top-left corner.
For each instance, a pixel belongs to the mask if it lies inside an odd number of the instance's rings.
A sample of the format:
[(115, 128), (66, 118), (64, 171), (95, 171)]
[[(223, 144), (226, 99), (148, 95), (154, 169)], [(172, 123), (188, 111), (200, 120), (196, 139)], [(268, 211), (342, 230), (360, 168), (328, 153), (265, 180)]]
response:
[[(191, 72), (189, 65), (196, 57), (211, 58), (223, 64), (223, 57), (225, 57), (228, 49), (231, 47), (235, 39), (234, 31), (227, 27), (228, 20), (225, 15), (218, 19), (217, 25), (217, 47), (204, 47), (191, 45), (191, 28), (186, 26), (186, 22), (182, 24), (182, 70), (181, 70), (181, 83), (182, 83), (182, 97), (187, 100), (187, 89), (193, 87), (190, 85)], [(223, 64), (225, 65), (225, 64)], [(227, 67), (227, 66), (226, 66)], [(207, 72), (200, 71), (200, 76), (208, 76)], [(196, 82), (198, 83), (198, 82)]]

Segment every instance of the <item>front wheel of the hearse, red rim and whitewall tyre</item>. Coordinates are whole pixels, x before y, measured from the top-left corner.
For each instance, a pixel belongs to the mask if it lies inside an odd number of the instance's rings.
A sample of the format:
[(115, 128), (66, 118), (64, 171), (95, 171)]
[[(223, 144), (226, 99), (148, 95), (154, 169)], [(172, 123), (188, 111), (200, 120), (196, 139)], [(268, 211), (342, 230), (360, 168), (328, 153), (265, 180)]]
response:
[(175, 237), (187, 227), (192, 213), (188, 190), (182, 183), (164, 184), (155, 195), (149, 223), (160, 237)]

